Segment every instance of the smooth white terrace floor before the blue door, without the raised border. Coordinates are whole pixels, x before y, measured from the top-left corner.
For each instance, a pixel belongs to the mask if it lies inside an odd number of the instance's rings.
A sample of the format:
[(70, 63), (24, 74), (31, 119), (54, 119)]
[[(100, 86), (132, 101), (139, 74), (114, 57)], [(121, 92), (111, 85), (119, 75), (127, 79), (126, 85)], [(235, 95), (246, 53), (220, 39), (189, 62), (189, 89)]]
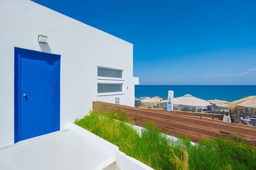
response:
[(69, 129), (34, 137), (0, 149), (0, 169), (100, 169), (114, 163), (107, 150)]

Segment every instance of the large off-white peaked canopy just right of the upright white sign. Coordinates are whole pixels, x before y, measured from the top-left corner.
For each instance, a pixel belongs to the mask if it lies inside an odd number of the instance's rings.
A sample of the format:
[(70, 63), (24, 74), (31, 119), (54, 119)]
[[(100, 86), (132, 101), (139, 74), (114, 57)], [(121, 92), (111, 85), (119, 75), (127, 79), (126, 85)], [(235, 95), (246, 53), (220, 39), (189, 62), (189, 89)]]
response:
[(173, 104), (185, 105), (185, 106), (197, 106), (197, 107), (206, 107), (211, 106), (210, 102), (206, 100), (199, 99), (194, 97), (193, 95), (186, 94), (179, 98), (173, 98)]

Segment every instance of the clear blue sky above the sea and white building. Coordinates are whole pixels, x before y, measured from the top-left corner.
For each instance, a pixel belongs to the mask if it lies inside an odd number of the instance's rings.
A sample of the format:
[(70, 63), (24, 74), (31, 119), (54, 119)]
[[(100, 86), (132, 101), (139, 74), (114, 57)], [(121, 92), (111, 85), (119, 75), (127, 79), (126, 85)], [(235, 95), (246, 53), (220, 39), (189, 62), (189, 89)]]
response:
[(256, 1), (34, 2), (132, 43), (142, 85), (256, 85)]

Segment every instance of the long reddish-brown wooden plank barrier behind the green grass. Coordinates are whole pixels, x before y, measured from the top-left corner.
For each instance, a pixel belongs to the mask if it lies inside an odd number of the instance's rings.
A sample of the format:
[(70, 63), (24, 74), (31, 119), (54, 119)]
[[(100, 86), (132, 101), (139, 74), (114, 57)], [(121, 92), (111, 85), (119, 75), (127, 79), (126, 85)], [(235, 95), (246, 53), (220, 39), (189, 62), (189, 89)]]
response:
[(219, 120), (223, 116), (218, 114), (141, 109), (99, 101), (93, 102), (93, 110), (124, 111), (127, 116), (134, 119), (135, 125), (141, 126), (146, 120), (151, 120), (161, 127), (163, 133), (187, 136), (193, 142), (217, 136), (224, 138), (234, 136), (241, 137), (248, 144), (256, 145), (256, 127), (224, 123)]

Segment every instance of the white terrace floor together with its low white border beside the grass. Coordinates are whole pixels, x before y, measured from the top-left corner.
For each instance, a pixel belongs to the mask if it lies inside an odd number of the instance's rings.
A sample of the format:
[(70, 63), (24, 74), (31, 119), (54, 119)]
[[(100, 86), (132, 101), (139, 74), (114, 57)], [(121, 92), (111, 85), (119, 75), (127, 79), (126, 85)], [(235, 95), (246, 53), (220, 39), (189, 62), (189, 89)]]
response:
[(120, 169), (152, 169), (126, 156), (115, 145), (74, 124), (69, 129), (0, 148), (1, 170), (100, 170), (112, 163)]

